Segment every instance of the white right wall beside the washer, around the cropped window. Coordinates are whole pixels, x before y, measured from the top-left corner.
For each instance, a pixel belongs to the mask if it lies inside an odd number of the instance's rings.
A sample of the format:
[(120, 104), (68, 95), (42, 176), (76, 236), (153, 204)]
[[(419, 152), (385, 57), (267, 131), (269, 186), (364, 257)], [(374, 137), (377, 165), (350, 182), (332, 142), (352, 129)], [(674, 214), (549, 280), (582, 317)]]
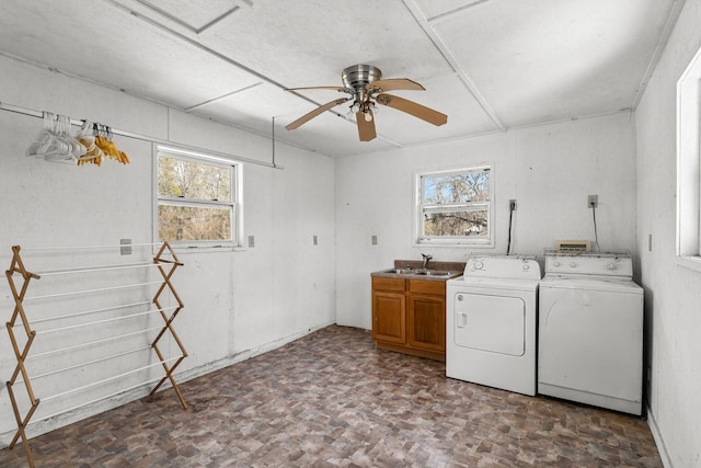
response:
[(636, 111), (650, 424), (666, 465), (675, 467), (701, 466), (701, 273), (675, 262), (676, 84), (701, 46), (699, 24), (701, 1), (687, 0)]

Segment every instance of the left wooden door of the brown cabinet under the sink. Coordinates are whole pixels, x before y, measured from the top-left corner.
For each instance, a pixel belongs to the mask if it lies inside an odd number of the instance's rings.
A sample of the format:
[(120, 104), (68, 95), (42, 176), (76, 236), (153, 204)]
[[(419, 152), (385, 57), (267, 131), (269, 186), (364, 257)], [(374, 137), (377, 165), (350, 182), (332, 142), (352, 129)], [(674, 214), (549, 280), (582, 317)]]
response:
[(404, 293), (372, 292), (372, 338), (391, 343), (406, 343)]

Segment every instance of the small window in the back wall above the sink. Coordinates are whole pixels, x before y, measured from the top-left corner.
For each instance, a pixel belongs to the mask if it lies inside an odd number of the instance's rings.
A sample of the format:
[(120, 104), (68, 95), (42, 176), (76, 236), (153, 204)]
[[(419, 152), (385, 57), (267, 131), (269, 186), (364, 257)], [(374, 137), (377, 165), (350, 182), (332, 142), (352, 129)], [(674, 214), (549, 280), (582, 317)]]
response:
[(416, 242), (493, 246), (489, 165), (416, 174)]

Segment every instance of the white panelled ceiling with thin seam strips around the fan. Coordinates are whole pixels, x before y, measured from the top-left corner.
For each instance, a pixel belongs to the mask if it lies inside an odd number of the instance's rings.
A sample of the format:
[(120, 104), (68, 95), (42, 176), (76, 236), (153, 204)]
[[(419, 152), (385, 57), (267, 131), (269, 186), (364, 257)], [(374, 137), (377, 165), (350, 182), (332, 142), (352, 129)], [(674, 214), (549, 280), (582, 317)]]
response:
[[(634, 109), (683, 0), (2, 0), (0, 54), (343, 157)], [(355, 64), (448, 115), (390, 107), (358, 141), (342, 85)], [(0, 101), (2, 99), (0, 90)], [(50, 110), (49, 110), (50, 111)]]

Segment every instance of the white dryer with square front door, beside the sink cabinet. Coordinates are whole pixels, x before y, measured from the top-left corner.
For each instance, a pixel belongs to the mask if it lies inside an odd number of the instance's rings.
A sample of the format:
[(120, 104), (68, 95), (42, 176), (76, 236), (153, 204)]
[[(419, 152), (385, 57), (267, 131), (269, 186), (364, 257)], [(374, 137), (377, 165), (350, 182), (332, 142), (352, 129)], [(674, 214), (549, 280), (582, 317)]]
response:
[(446, 376), (536, 395), (539, 281), (532, 258), (468, 260), (446, 284)]

